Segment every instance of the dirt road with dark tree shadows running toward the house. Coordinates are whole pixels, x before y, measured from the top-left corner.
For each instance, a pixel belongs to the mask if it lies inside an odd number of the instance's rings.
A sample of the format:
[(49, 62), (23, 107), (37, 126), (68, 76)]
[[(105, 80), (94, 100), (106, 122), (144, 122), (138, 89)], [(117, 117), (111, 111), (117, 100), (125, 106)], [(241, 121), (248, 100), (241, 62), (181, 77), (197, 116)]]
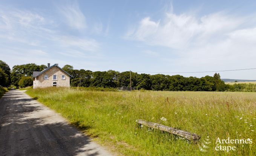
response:
[(110, 156), (67, 121), (19, 90), (0, 99), (1, 156)]

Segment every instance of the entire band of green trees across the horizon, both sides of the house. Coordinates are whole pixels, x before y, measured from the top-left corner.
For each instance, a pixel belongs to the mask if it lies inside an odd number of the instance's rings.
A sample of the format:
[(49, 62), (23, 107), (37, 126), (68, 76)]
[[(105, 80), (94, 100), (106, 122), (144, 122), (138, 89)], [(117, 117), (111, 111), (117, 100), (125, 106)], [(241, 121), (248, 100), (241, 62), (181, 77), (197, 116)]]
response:
[[(28, 63), (15, 65), (11, 70), (5, 62), (0, 60), (0, 86), (32, 86), (33, 71), (43, 71), (45, 68), (47, 68), (46, 65)], [(233, 86), (225, 84), (217, 73), (213, 76), (207, 75), (196, 78), (183, 77), (181, 75), (138, 74), (136, 72), (130, 73), (130, 71), (118, 72), (113, 70), (92, 72), (90, 70), (74, 69), (71, 65), (64, 65), (62, 69), (72, 75), (70, 84), (73, 87), (130, 87), (131, 74), (132, 87), (137, 90), (256, 92), (256, 85), (253, 84), (235, 84)]]

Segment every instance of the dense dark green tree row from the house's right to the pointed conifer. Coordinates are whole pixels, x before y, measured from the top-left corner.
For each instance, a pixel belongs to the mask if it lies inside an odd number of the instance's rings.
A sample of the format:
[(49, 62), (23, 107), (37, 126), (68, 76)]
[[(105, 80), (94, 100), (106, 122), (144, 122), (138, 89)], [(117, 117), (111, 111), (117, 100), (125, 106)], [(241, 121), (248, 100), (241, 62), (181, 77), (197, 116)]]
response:
[(62, 68), (71, 74), (71, 86), (77, 87), (130, 87), (130, 75), (132, 87), (140, 90), (161, 90), (161, 91), (225, 91), (228, 86), (221, 81), (219, 74), (215, 73), (213, 77), (205, 76), (202, 78), (183, 77), (181, 75), (164, 74), (138, 74), (136, 72), (126, 71), (96, 71), (84, 69), (74, 69), (71, 65), (65, 65)]

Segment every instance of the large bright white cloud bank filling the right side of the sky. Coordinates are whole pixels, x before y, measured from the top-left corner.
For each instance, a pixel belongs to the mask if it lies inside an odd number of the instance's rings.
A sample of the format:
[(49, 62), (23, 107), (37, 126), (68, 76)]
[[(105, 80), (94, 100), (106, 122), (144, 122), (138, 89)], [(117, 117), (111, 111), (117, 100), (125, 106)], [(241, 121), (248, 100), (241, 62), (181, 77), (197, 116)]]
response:
[[(126, 38), (146, 43), (149, 45), (147, 49), (162, 46), (159, 54), (163, 48), (165, 52), (169, 51), (169, 57), (163, 53), (159, 58), (163, 56), (161, 60), (172, 69), (170, 72), (254, 68), (255, 20), (253, 15), (235, 16), (225, 12), (202, 17), (167, 12), (158, 20), (150, 17), (141, 19), (137, 26), (127, 31)], [(147, 53), (150, 54), (150, 50)], [(243, 77), (237, 73), (222, 72), (221, 75), (222, 78), (245, 79), (250, 75)]]

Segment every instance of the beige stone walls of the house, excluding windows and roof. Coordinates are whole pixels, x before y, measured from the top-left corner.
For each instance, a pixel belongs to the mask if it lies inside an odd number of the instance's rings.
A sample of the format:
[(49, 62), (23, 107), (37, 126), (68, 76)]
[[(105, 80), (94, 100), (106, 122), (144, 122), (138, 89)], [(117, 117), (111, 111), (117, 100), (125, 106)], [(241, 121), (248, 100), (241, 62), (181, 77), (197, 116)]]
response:
[[(44, 75), (48, 75), (48, 80), (44, 80)], [(53, 80), (53, 75), (57, 75), (57, 80)], [(62, 80), (62, 75), (65, 75), (64, 80)], [(55, 66), (49, 69), (48, 71), (44, 72), (43, 74), (39, 75), (36, 81), (34, 81), (34, 83), (38, 83), (37, 87), (52, 87), (54, 82), (57, 83), (57, 87), (70, 86), (69, 75), (61, 71), (58, 67), (55, 67)]]

